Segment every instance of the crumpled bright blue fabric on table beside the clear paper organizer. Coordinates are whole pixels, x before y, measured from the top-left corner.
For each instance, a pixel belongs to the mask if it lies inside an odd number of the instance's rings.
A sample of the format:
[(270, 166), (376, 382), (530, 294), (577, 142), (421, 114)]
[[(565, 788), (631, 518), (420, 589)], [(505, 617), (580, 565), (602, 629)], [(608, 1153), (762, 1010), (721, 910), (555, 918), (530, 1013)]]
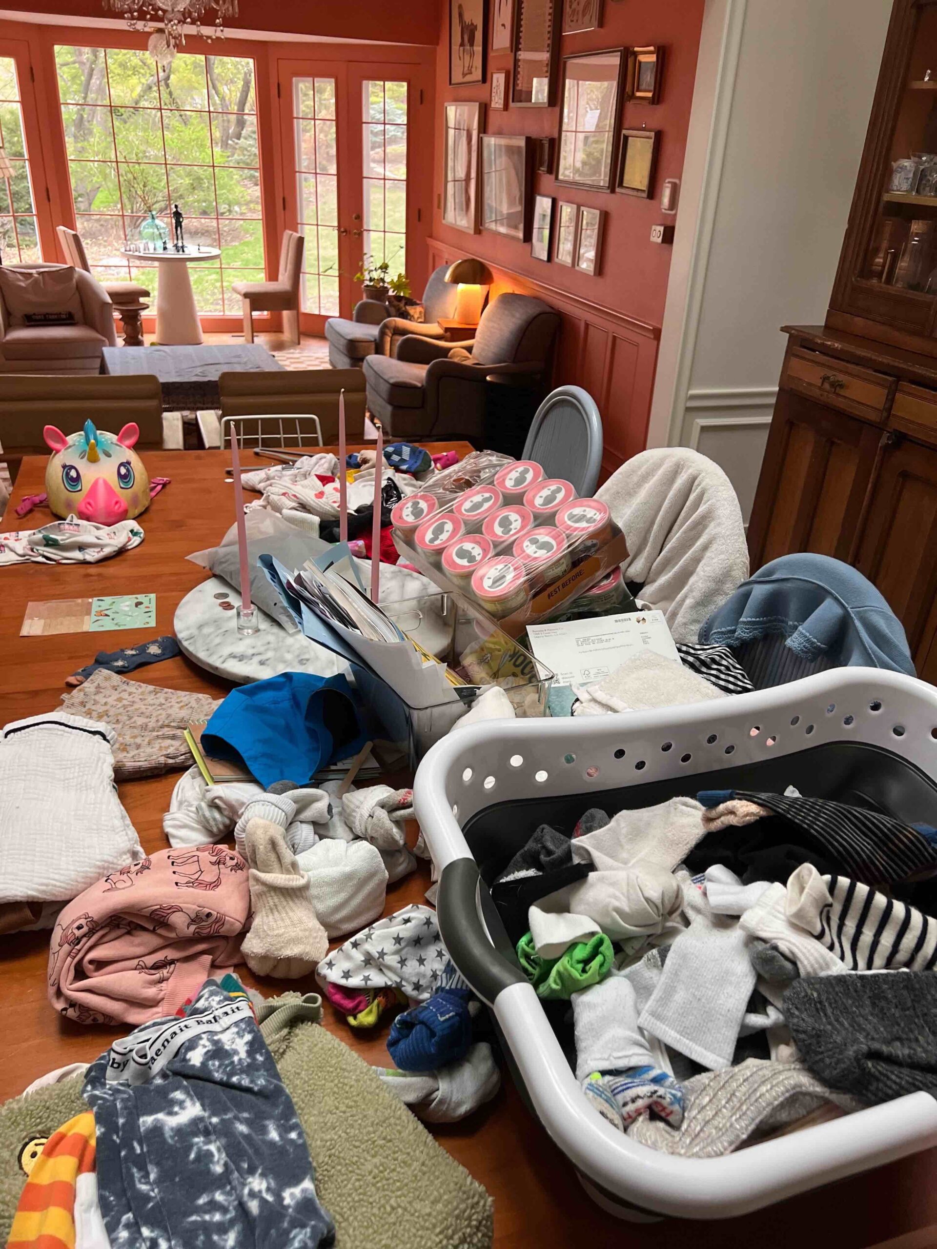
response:
[(304, 786), (337, 759), (357, 754), (366, 736), (344, 676), (282, 672), (232, 689), (201, 737), (206, 753), (237, 757), (265, 789)]

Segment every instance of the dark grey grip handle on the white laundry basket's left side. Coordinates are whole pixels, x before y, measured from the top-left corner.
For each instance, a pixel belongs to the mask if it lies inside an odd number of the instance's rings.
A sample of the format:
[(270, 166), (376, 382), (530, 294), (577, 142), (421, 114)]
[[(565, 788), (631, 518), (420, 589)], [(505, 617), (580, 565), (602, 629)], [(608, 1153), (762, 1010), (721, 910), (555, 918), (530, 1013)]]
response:
[(523, 973), (505, 959), (478, 913), (478, 864), (471, 858), (452, 859), (442, 868), (436, 898), (442, 944), (477, 995), (493, 1005), (502, 989), (526, 984)]

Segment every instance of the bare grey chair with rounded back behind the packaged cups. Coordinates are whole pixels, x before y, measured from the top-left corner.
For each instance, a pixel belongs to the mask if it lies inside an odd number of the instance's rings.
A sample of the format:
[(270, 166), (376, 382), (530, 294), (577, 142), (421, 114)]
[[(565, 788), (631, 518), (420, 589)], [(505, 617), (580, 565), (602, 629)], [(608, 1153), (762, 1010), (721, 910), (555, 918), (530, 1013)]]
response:
[(531, 422), (521, 458), (533, 460), (547, 477), (572, 482), (590, 498), (602, 467), (602, 417), (592, 396), (581, 386), (551, 391)]

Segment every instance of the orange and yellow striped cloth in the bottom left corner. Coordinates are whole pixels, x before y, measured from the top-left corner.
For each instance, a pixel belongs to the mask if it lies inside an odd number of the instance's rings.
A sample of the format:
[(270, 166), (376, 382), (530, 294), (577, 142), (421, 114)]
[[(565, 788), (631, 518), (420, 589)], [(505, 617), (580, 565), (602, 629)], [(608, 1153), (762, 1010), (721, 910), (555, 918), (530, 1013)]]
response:
[(95, 1169), (95, 1117), (69, 1119), (45, 1144), (20, 1194), (6, 1249), (75, 1249), (79, 1175)]

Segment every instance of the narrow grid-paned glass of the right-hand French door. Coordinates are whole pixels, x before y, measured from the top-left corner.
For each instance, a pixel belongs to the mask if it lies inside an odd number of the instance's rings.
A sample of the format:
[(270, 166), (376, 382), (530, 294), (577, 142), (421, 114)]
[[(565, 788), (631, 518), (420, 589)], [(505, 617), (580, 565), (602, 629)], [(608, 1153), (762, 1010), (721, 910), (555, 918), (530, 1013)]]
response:
[(406, 272), (407, 85), (362, 84), (365, 255)]

